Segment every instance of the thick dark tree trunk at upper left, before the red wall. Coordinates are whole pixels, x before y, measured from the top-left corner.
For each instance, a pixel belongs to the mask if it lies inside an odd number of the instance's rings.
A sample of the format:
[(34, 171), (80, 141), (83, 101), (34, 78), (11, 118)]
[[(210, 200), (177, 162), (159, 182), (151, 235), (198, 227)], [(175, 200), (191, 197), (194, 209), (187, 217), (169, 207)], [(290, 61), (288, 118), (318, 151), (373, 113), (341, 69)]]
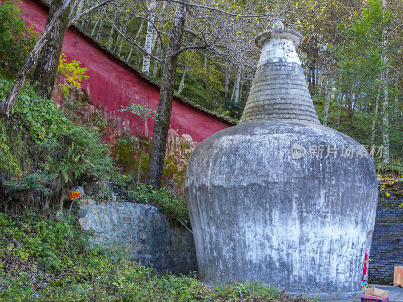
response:
[[(62, 5), (62, 0), (52, 1), (46, 25), (49, 24), (56, 11), (58, 11)], [(69, 15), (70, 5), (59, 17), (58, 23), (53, 27), (38, 56), (38, 64), (32, 79), (36, 83), (36, 90), (38, 93), (46, 97), (49, 97), (52, 94), (54, 82), (56, 80), (57, 65), (59, 63), (64, 33), (69, 22)]]

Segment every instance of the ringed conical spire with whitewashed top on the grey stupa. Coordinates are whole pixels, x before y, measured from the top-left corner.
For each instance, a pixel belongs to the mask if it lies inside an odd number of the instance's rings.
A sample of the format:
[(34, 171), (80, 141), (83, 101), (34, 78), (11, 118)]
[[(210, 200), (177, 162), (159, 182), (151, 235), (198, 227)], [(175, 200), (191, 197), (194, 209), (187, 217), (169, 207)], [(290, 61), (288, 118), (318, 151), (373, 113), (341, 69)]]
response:
[(299, 32), (275, 20), (271, 30), (255, 38), (262, 48), (240, 124), (266, 120), (305, 120), (319, 123), (296, 47)]

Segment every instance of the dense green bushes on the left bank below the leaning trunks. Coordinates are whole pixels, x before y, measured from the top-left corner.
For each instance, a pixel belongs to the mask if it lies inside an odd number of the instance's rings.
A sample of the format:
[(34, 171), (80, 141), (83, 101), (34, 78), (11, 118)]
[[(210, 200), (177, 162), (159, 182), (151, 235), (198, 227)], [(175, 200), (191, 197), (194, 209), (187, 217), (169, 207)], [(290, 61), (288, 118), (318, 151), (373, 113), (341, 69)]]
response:
[[(0, 80), (0, 99), (11, 83)], [(116, 176), (109, 145), (102, 134), (75, 124), (26, 86), (9, 120), (0, 120), (2, 200), (44, 206), (66, 188), (87, 178)]]

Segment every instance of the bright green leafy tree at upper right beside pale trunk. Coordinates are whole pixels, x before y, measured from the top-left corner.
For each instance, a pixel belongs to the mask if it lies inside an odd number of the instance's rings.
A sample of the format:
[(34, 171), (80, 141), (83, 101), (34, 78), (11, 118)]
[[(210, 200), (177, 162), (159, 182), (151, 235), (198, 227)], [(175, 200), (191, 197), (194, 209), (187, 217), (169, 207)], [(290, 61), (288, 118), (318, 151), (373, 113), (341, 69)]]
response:
[(369, 8), (364, 8), (362, 14), (362, 18), (355, 16), (350, 28), (339, 25), (344, 38), (344, 42), (337, 46), (336, 54), (341, 68), (339, 85), (348, 95), (351, 119), (355, 111), (373, 106), (376, 100), (381, 72), (386, 67), (382, 61), (382, 34), (392, 22), (390, 13), (383, 18), (379, 0), (371, 0)]

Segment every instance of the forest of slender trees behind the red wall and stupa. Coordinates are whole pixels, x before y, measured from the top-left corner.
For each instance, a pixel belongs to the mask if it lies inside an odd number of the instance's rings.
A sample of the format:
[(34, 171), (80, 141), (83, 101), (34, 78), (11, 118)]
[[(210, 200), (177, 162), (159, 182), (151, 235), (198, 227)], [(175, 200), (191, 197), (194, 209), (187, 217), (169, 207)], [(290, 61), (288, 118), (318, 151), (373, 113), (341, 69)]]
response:
[[(161, 83), (172, 16), (180, 3), (117, 0), (84, 16), (77, 26)], [(70, 18), (95, 4), (74, 0)], [(260, 54), (254, 36), (279, 17), (303, 35), (298, 53), (321, 123), (352, 136), (369, 150), (372, 145), (383, 146), (382, 162), (401, 168), (401, 1), (200, 1), (192, 5), (175, 93), (239, 119)]]

